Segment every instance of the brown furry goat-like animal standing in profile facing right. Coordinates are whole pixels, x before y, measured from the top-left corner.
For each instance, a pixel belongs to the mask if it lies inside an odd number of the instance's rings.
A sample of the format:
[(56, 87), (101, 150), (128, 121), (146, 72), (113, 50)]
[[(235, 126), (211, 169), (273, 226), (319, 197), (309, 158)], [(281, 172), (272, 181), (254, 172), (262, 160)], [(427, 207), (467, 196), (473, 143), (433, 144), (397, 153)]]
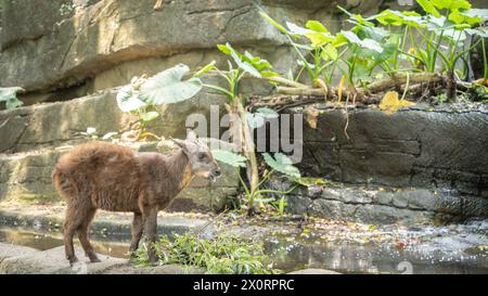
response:
[[(189, 130), (187, 140), (172, 139), (181, 149), (171, 155), (139, 153), (105, 142), (81, 144), (57, 160), (52, 180), (57, 192), (67, 201), (64, 222), (66, 259), (77, 260), (73, 236), (78, 239), (90, 258), (95, 253), (88, 240), (88, 228), (98, 208), (111, 211), (132, 211), (133, 254), (142, 232), (150, 244), (156, 240), (157, 213), (166, 208), (194, 176), (213, 181), (220, 168), (208, 146)], [(156, 261), (152, 247), (149, 258)]]

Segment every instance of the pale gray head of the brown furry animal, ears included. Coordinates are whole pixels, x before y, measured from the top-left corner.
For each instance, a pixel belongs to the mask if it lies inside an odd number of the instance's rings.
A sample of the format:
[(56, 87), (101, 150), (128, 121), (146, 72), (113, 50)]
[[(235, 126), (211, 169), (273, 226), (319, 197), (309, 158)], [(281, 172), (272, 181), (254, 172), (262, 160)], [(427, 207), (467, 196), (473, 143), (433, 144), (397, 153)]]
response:
[(210, 149), (196, 137), (193, 130), (189, 129), (187, 131), (185, 140), (171, 140), (183, 150), (190, 159), (190, 167), (193, 175), (205, 177), (215, 182), (217, 177), (220, 176), (220, 167), (214, 159)]

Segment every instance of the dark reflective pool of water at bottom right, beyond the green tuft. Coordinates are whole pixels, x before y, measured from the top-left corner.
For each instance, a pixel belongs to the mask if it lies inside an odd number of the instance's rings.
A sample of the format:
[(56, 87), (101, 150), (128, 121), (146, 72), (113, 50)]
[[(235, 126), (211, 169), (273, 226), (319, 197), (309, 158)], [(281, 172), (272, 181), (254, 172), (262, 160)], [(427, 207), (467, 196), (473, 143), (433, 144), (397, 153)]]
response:
[(424, 256), (376, 244), (290, 243), (284, 237), (268, 239), (265, 247), (274, 267), (285, 271), (322, 268), (342, 273), (488, 273), (488, 258), (484, 255), (449, 257), (437, 252)]

